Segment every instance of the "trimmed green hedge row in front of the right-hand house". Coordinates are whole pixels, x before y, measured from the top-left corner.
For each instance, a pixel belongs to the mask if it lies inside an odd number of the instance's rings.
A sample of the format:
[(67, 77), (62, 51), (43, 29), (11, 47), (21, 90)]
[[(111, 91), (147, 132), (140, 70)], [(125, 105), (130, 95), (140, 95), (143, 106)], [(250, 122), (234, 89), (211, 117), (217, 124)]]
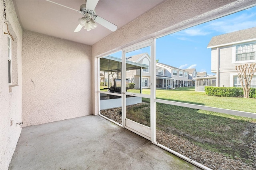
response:
[[(243, 97), (244, 91), (242, 87), (204, 87), (205, 93), (208, 96), (218, 97)], [(250, 88), (250, 98), (256, 98), (256, 88)]]

